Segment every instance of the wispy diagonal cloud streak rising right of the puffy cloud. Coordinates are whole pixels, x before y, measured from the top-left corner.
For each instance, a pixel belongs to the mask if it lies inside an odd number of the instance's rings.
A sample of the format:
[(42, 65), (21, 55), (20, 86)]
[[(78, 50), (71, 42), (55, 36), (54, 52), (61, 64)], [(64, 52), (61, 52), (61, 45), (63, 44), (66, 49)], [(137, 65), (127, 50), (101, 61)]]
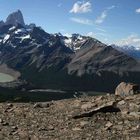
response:
[(108, 8), (106, 8), (106, 9), (101, 13), (101, 15), (100, 15), (99, 17), (97, 17), (95, 23), (96, 23), (96, 24), (101, 24), (101, 23), (103, 23), (104, 20), (106, 19), (106, 17), (108, 16), (108, 12), (109, 12), (110, 10), (114, 9), (115, 7), (116, 7), (116, 6), (112, 5), (112, 6), (108, 7)]

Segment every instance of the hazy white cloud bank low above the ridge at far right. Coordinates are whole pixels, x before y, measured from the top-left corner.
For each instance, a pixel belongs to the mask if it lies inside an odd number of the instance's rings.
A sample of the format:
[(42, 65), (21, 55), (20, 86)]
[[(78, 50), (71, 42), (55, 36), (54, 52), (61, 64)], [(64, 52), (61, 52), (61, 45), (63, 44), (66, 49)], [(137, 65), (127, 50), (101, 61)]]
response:
[(140, 48), (140, 37), (136, 34), (132, 34), (127, 38), (121, 39), (115, 44), (118, 46), (134, 46), (136, 48)]

